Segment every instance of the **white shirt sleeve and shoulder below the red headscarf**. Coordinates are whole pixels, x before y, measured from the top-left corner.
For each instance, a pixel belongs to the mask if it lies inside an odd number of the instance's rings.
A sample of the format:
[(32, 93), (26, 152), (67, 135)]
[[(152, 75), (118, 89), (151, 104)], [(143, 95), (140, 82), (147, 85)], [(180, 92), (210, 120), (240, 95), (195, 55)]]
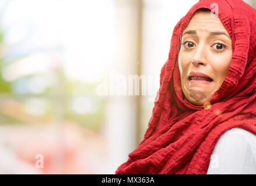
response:
[(222, 134), (213, 149), (207, 174), (256, 174), (256, 135), (242, 128)]

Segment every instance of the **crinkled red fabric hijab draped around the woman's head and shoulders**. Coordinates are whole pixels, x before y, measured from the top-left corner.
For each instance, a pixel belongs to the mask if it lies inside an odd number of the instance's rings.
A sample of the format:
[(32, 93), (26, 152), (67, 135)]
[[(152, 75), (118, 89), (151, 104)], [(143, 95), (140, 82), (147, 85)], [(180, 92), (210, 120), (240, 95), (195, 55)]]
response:
[[(181, 90), (178, 53), (192, 15), (219, 5), (219, 18), (232, 37), (233, 56), (211, 105), (193, 105)], [(217, 12), (216, 12), (217, 13)], [(241, 0), (201, 0), (177, 23), (169, 58), (160, 74), (144, 139), (116, 174), (206, 174), (220, 135), (235, 127), (256, 135), (256, 10)], [(210, 108), (211, 107), (211, 108)]]

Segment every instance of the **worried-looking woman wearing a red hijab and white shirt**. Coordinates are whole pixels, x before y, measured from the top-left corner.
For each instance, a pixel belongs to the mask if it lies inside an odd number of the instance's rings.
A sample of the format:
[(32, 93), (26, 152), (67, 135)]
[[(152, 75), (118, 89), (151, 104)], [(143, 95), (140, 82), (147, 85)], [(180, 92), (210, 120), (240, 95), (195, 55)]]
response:
[(256, 174), (255, 71), (256, 10), (192, 6), (174, 28), (144, 139), (116, 174)]

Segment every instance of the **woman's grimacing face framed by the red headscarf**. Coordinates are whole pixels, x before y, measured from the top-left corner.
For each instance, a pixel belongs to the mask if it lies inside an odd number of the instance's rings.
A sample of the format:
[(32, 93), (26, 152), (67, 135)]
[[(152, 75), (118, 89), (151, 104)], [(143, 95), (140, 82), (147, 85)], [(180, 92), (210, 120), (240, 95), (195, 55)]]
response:
[(185, 28), (181, 43), (181, 88), (188, 101), (204, 105), (225, 80), (232, 60), (232, 39), (219, 17), (198, 12)]

